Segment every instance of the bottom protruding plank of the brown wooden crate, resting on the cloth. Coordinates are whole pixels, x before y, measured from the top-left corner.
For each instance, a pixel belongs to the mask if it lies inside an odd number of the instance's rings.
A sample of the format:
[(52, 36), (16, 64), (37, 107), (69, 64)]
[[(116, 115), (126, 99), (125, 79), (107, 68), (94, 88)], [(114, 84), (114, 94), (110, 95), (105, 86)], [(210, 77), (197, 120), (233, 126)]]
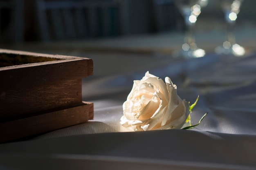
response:
[(83, 102), (51, 113), (0, 123), (0, 143), (85, 123), (92, 115), (93, 104)]

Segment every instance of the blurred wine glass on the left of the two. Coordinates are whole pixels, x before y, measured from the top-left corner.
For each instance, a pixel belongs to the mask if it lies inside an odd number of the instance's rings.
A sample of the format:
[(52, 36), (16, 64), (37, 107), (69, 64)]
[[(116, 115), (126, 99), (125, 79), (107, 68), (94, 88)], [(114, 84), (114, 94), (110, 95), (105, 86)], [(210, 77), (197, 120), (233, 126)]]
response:
[(194, 25), (198, 15), (201, 13), (201, 8), (207, 5), (208, 0), (175, 0), (174, 2), (182, 13), (187, 26), (182, 49), (180, 51), (175, 51), (175, 53), (173, 53), (174, 57), (184, 57), (187, 59), (203, 57), (205, 51), (198, 48), (195, 43)]

